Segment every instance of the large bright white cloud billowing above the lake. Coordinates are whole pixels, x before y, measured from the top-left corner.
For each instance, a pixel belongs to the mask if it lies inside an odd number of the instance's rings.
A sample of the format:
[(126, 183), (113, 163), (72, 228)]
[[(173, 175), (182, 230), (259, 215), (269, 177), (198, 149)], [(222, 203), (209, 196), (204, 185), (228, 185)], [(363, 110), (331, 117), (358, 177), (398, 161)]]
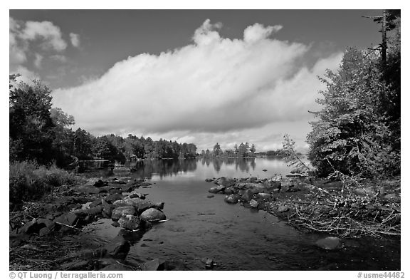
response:
[(243, 39), (221, 38), (219, 28), (206, 20), (188, 46), (129, 57), (94, 81), (55, 90), (53, 102), (95, 134), (214, 133), (307, 118), (317, 75), (340, 54), (307, 68), (308, 46), (269, 38), (281, 26), (248, 26)]

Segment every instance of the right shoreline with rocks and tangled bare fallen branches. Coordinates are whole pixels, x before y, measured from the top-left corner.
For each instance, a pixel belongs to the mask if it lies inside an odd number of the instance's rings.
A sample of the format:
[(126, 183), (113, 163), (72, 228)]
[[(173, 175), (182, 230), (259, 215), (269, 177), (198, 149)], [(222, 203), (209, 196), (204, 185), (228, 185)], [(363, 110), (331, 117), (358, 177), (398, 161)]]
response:
[[(375, 182), (330, 182), (308, 175), (206, 179), (227, 203), (269, 212), (305, 232), (340, 238), (400, 237), (400, 177)], [(354, 183), (354, 184), (353, 184)]]

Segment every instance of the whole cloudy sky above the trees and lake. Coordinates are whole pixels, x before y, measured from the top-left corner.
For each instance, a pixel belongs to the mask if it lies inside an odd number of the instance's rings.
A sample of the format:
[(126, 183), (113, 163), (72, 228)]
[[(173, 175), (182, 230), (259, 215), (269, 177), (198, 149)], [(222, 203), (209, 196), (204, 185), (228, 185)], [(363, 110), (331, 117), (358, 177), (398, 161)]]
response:
[(380, 10), (10, 10), (9, 72), (39, 78), (93, 135), (300, 150), (308, 110)]

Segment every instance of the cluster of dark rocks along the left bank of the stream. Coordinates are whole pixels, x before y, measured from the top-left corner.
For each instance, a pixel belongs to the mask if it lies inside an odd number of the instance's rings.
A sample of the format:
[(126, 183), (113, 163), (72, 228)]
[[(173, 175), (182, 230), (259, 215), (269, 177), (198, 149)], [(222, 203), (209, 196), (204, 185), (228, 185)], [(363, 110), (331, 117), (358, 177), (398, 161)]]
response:
[[(64, 186), (58, 190), (58, 199), (38, 204), (33, 219), (14, 223), (11, 220), (11, 247), (19, 246), (30, 236), (44, 237), (52, 232), (79, 232), (81, 227), (100, 218), (112, 219), (112, 225), (122, 227), (115, 239), (104, 247), (90, 252), (94, 257), (111, 256), (124, 259), (130, 250), (130, 240), (142, 234), (152, 223), (166, 219), (164, 202), (150, 202), (137, 188), (149, 187), (151, 183), (130, 178), (101, 180), (92, 178), (85, 185)], [(136, 232), (133, 234), (133, 232)], [(134, 235), (130, 237), (130, 234)], [(19, 238), (20, 237), (20, 238)], [(23, 237), (23, 238), (21, 238)]]

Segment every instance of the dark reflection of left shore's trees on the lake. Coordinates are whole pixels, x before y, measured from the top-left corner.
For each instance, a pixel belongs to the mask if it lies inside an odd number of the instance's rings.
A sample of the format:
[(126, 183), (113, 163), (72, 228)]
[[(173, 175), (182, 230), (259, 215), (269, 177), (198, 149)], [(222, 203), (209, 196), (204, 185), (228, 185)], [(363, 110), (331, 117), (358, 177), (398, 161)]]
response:
[(133, 177), (152, 178), (153, 174), (157, 174), (162, 178), (196, 170), (196, 160), (142, 160), (132, 162), (130, 167)]

